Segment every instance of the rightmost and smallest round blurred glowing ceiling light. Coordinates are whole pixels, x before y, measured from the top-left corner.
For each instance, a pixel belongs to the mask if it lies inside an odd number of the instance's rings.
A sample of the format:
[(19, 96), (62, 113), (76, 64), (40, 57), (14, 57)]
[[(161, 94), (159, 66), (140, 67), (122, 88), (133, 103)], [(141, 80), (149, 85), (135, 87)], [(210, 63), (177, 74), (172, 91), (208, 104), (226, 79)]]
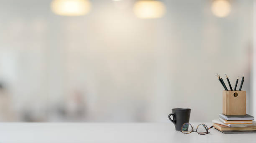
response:
[(212, 13), (217, 17), (226, 17), (231, 11), (228, 0), (215, 0), (212, 2)]

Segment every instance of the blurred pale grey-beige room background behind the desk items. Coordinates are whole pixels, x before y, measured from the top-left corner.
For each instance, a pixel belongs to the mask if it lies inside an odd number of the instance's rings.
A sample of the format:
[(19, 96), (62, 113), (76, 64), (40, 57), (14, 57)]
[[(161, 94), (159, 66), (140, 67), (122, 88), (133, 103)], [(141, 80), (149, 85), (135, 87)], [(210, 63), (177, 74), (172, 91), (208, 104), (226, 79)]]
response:
[(0, 121), (210, 122), (216, 73), (256, 113), (253, 0), (0, 1)]

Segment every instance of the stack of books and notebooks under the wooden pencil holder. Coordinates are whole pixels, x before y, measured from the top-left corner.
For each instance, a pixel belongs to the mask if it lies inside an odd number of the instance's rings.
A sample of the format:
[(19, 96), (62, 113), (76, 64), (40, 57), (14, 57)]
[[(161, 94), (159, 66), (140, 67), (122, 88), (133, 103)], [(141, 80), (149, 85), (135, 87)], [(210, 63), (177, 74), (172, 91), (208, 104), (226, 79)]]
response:
[(222, 133), (256, 133), (256, 122), (251, 115), (224, 115), (212, 120), (213, 127)]

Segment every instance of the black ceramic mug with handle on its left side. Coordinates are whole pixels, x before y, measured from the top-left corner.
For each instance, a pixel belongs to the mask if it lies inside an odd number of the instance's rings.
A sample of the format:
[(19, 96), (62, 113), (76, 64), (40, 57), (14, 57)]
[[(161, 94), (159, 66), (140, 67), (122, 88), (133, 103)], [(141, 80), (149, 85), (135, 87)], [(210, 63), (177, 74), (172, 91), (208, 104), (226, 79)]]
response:
[[(168, 118), (175, 125), (176, 131), (180, 131), (184, 123), (189, 123), (190, 108), (174, 108)], [(172, 118), (171, 118), (172, 116)]]

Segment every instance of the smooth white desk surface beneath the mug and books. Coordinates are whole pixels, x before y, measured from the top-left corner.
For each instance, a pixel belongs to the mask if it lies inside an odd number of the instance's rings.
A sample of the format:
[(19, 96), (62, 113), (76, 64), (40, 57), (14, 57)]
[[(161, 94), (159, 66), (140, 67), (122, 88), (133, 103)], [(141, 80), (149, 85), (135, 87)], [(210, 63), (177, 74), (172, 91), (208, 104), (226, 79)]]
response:
[(256, 134), (209, 131), (183, 134), (173, 123), (0, 123), (0, 143), (256, 143)]

